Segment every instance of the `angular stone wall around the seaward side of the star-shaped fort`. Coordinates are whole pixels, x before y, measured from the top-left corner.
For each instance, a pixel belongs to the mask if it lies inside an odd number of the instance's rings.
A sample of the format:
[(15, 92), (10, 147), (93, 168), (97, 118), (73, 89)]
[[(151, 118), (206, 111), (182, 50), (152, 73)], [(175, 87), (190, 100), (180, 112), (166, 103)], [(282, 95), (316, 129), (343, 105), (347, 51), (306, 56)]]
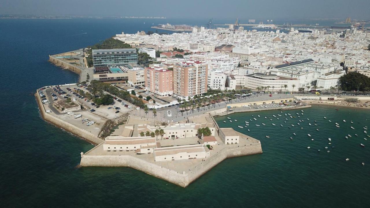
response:
[(84, 155), (81, 153), (80, 166), (127, 166), (181, 187), (186, 187), (226, 158), (260, 153), (262, 153), (262, 147), (259, 142), (250, 145), (232, 145), (218, 152), (213, 152), (214, 155), (202, 161), (200, 165), (192, 168), (189, 172), (184, 171), (182, 173), (163, 168), (131, 155)]

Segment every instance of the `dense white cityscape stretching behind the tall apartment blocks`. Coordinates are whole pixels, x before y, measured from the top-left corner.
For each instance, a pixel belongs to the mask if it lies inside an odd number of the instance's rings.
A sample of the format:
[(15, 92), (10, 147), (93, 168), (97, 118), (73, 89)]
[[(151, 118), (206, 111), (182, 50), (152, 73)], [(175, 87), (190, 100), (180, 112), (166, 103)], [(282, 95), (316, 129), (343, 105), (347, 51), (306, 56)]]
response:
[[(246, 31), (231, 28), (193, 28), (192, 33), (147, 35), (117, 34), (115, 37), (140, 51), (161, 51), (155, 67), (199, 61), (208, 68), (208, 88), (241, 88), (298, 91), (299, 88), (330, 89), (341, 76), (357, 71), (369, 76), (369, 34), (352, 28), (344, 31), (314, 30), (299, 33)], [(184, 50), (180, 53), (173, 51)], [(171, 51), (171, 52), (169, 52)], [(173, 51), (173, 52), (172, 52)], [(149, 51), (148, 51), (149, 52)], [(176, 54), (184, 55), (176, 56)], [(151, 55), (153, 56), (153, 55)], [(286, 89), (284, 86), (286, 85)], [(295, 89), (293, 89), (295, 86)]]

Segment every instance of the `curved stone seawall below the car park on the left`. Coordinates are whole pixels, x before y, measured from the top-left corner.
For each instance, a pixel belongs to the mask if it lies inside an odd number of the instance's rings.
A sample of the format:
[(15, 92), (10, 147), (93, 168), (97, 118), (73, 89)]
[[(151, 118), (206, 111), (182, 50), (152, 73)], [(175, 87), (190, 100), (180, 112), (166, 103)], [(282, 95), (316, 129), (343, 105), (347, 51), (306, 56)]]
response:
[(46, 110), (44, 108), (44, 104), (41, 102), (41, 98), (40, 98), (40, 96), (38, 96), (38, 93), (35, 94), (35, 97), (36, 97), (38, 108), (40, 110), (41, 117), (45, 121), (48, 121), (48, 122), (56, 125), (57, 127), (63, 128), (64, 130), (66, 130), (68, 132), (71, 132), (72, 134), (75, 134), (78, 137), (81, 137), (85, 140), (88, 140), (93, 144), (100, 144), (101, 142), (104, 141), (104, 140), (96, 137), (95, 135), (91, 134), (88, 131), (85, 131), (81, 128), (75, 127), (74, 125), (72, 125), (70, 123), (67, 123), (67, 122), (65, 122), (65, 121), (63, 121), (59, 118), (54, 117), (53, 115), (50, 115), (50, 114), (46, 113)]

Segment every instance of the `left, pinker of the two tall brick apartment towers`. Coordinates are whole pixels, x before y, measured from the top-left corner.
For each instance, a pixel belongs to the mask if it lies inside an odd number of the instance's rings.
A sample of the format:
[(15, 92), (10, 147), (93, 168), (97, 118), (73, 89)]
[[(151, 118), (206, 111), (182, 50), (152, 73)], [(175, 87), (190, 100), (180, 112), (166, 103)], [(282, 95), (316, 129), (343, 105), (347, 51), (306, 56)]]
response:
[(173, 93), (172, 71), (163, 67), (146, 67), (144, 71), (145, 89), (160, 96)]

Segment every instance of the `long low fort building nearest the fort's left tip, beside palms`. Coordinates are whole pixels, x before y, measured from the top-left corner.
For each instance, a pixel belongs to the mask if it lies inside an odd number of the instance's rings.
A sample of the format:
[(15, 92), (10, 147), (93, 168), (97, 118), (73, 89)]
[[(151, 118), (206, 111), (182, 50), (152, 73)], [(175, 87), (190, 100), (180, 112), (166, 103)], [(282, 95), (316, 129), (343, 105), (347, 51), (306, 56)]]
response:
[(151, 153), (157, 147), (154, 137), (105, 137), (103, 150), (105, 151), (135, 151), (140, 153)]

